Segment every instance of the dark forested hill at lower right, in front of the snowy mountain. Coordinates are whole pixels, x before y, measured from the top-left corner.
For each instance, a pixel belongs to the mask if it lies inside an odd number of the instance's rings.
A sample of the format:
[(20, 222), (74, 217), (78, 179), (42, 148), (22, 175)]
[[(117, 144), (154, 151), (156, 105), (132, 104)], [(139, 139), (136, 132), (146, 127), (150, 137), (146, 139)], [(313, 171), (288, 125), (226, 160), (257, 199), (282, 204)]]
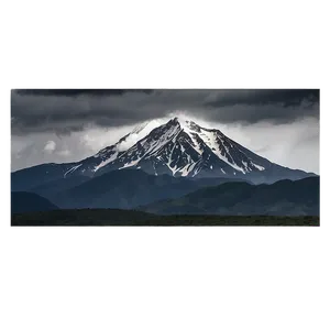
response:
[(272, 185), (226, 183), (139, 210), (158, 215), (321, 216), (324, 177), (279, 180)]

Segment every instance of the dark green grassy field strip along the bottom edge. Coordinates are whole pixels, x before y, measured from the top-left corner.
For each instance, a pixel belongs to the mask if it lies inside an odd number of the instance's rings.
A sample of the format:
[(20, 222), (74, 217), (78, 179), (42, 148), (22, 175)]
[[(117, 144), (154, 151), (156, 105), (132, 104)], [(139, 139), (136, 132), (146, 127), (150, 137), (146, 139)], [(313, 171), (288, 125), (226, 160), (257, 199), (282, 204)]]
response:
[(55, 210), (13, 215), (12, 228), (309, 229), (319, 217), (156, 216), (133, 210)]

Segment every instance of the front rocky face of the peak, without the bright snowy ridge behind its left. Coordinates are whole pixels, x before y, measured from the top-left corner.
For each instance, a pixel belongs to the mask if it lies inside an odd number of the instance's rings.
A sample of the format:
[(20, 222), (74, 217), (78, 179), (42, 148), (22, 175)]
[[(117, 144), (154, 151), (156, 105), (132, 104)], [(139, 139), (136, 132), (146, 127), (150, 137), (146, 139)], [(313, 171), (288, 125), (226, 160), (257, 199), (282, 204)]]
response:
[(178, 118), (155, 128), (128, 151), (113, 157), (114, 154), (111, 162), (98, 167), (97, 175), (113, 169), (141, 168), (153, 175), (241, 177), (254, 183), (311, 175), (271, 163), (219, 130), (204, 129)]

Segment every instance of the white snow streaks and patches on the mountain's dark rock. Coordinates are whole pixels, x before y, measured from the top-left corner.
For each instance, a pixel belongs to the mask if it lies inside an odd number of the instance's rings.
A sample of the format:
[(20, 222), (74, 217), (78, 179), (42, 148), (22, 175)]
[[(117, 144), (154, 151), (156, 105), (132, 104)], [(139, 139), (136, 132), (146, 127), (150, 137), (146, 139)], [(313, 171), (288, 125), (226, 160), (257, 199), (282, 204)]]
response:
[[(162, 136), (160, 136), (158, 139), (152, 139), (152, 136), (148, 135), (151, 131), (156, 128), (160, 128), (164, 123), (165, 122), (162, 122), (162, 120), (152, 120), (150, 122), (141, 123), (135, 129), (133, 129), (130, 134), (128, 134), (123, 142), (118, 142), (116, 145), (113, 145), (112, 148), (107, 147), (100, 151), (97, 155), (95, 155), (95, 157), (102, 157), (103, 161), (95, 167), (94, 172), (97, 172), (99, 168), (106, 166), (107, 164), (118, 158), (121, 158), (120, 161), (123, 164), (123, 166), (119, 169), (136, 166), (136, 164), (139, 164), (139, 162), (143, 158), (151, 158), (151, 161), (156, 158), (158, 161), (165, 162), (164, 165), (166, 165), (172, 170), (173, 175), (179, 172), (182, 176), (187, 176), (193, 172), (193, 176), (195, 176), (200, 172), (200, 166), (197, 165), (199, 165), (200, 162), (202, 162), (202, 160), (201, 157), (199, 157), (197, 162), (194, 162), (190, 155), (187, 154), (184, 145), (180, 143), (182, 141), (177, 140), (177, 136), (182, 131), (187, 133), (187, 135), (190, 138), (188, 141), (185, 141), (185, 143), (189, 143), (190, 146), (199, 155), (202, 154), (204, 150), (199, 145), (198, 140), (200, 141), (200, 143), (204, 142), (207, 146), (209, 146), (219, 160), (223, 161), (226, 164), (230, 165), (233, 169), (235, 169), (234, 175), (237, 175), (237, 172), (245, 174), (252, 170), (252, 168), (249, 167), (250, 160), (249, 163), (242, 161), (242, 164), (237, 164), (234, 162), (234, 158), (231, 155), (232, 150), (237, 150), (239, 152), (242, 151), (240, 151), (237, 145), (233, 145), (233, 143), (231, 143), (230, 140), (224, 140), (226, 136), (221, 132), (200, 128), (191, 121), (178, 119), (178, 122), (174, 122), (173, 125), (170, 125), (169, 129), (165, 131), (164, 134), (162, 134)], [(140, 144), (143, 147), (143, 150), (139, 152), (136, 147), (138, 142), (140, 142)], [(167, 147), (168, 143), (173, 143), (173, 147), (170, 147), (170, 150)], [(183, 160), (185, 160), (184, 166), (180, 166), (179, 168), (177, 167), (177, 165), (170, 167), (173, 161), (176, 161), (173, 158), (173, 153), (175, 148), (179, 148), (182, 155), (184, 156)], [(123, 151), (123, 153), (121, 153), (121, 155), (119, 156), (119, 153), (121, 151)], [(109, 154), (110, 157), (106, 160), (107, 154)], [(131, 161), (132, 158), (135, 160)], [(263, 166), (256, 164), (253, 165), (258, 170), (265, 169)], [(155, 169), (154, 163), (153, 166)], [(141, 166), (139, 166), (138, 168), (141, 168)], [(212, 164), (210, 164), (209, 168), (213, 169)], [(70, 168), (66, 174), (73, 170), (76, 170), (76, 168)], [(222, 168), (221, 172), (226, 174), (226, 172)]]

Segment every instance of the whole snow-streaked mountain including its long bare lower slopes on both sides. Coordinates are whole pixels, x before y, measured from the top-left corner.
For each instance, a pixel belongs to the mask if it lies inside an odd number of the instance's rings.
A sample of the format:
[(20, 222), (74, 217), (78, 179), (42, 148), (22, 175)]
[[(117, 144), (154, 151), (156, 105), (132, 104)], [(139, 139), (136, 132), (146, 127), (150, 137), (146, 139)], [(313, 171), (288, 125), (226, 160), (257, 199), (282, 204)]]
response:
[(188, 178), (243, 178), (254, 184), (315, 176), (267, 161), (226, 136), (178, 118), (165, 124), (151, 121), (116, 144), (76, 163), (43, 164), (11, 174), (11, 189), (29, 190), (58, 179), (92, 178), (118, 169)]

